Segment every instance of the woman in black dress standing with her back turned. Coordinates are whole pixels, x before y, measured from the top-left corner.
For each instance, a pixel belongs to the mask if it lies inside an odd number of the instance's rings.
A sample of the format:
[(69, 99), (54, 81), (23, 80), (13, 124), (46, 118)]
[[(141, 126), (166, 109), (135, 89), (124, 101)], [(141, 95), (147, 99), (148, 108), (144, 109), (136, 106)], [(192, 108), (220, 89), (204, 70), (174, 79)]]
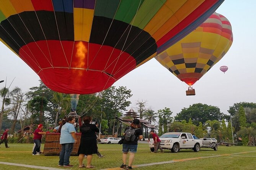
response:
[(97, 153), (97, 143), (96, 143), (96, 132), (99, 129), (94, 124), (91, 123), (92, 118), (90, 116), (83, 117), (83, 125), (80, 127), (81, 141), (78, 149), (79, 154), (79, 167), (85, 167), (83, 165), (83, 157), (87, 155), (87, 165), (86, 168), (94, 168), (91, 165), (92, 154)]

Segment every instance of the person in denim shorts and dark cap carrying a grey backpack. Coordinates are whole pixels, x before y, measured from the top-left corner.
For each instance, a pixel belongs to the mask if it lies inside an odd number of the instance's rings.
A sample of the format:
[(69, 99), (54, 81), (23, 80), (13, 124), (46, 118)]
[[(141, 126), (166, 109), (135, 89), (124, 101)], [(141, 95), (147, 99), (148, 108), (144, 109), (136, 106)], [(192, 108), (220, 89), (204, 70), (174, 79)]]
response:
[[(137, 152), (138, 139), (141, 140), (143, 138), (139, 119), (132, 120), (130, 127), (132, 129), (136, 129), (136, 128), (139, 128), (139, 129), (135, 130), (136, 137), (135, 137), (134, 141), (126, 141), (126, 140), (123, 141), (123, 149), (122, 149), (123, 164), (120, 166), (120, 168), (132, 169), (132, 162), (134, 161), (134, 156), (135, 156), (135, 153)], [(124, 130), (124, 132), (126, 132), (126, 130), (128, 130), (130, 127), (127, 127)], [(123, 133), (123, 135), (125, 135), (125, 133)], [(130, 152), (129, 153), (129, 161), (128, 161), (128, 166), (126, 166), (126, 158), (127, 158), (128, 152)]]

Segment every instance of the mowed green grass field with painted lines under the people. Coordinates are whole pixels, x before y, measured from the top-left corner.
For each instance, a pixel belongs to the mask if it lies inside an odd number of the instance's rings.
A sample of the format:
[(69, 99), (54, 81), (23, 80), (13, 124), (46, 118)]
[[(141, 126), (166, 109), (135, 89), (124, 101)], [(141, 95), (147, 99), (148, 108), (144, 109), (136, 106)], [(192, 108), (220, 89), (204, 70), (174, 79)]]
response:
[[(0, 162), (11, 162), (16, 164), (36, 165), (43, 167), (58, 167), (59, 156), (32, 156), (33, 144), (9, 144), (10, 148), (1, 145)], [(119, 144), (98, 144), (99, 152), (105, 157), (98, 158), (93, 155), (91, 164), (94, 169), (121, 169), (122, 145)], [(42, 144), (41, 150), (44, 148)], [(136, 167), (136, 165), (151, 164), (155, 162), (172, 161), (167, 164), (149, 165)], [(128, 162), (127, 162), (128, 163)], [(78, 170), (78, 157), (71, 156), (70, 164), (74, 165), (72, 170)], [(84, 159), (86, 164), (86, 159)], [(256, 169), (256, 147), (249, 146), (219, 146), (218, 151), (210, 148), (201, 148), (199, 152), (191, 149), (181, 149), (178, 153), (171, 153), (165, 150), (164, 153), (151, 153), (148, 144), (139, 143), (138, 152), (135, 154), (133, 167), (138, 170), (158, 169), (208, 169), (208, 170), (254, 170)], [(0, 164), (0, 170), (34, 170), (14, 165)]]

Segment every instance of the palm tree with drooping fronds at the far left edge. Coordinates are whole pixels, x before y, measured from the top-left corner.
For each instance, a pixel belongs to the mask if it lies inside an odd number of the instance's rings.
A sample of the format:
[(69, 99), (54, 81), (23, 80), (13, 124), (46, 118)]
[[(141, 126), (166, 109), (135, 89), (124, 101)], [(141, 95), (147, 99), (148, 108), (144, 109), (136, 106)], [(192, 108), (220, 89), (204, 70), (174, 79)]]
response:
[(9, 90), (9, 88), (10, 88), (10, 86), (7, 88), (6, 84), (5, 84), (5, 87), (0, 89), (0, 98), (2, 98), (2, 108), (1, 108), (1, 112), (0, 112), (0, 132), (2, 130), (4, 106), (8, 106), (9, 104), (11, 104), (10, 97), (21, 91), (21, 89), (19, 87), (15, 87), (11, 91)]

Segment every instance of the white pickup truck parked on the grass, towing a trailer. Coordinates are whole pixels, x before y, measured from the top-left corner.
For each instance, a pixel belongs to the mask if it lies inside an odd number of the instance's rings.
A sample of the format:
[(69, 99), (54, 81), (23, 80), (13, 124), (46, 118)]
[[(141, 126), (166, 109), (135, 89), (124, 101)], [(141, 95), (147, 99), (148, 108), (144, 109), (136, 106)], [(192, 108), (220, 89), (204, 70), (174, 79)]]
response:
[[(168, 132), (160, 137), (161, 148), (171, 149), (171, 152), (177, 153), (180, 149), (193, 149), (195, 152), (198, 152), (203, 146), (203, 141), (200, 139), (194, 139), (191, 133), (183, 132)], [(150, 150), (154, 151), (153, 139), (150, 139), (149, 142)]]

